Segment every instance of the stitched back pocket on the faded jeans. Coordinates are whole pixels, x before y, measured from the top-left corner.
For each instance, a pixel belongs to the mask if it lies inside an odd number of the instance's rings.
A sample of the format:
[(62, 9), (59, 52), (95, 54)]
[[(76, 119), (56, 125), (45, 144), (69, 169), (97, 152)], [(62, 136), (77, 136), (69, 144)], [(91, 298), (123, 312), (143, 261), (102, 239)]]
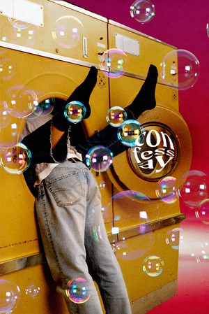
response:
[(82, 185), (77, 171), (45, 180), (57, 206), (72, 206), (82, 199)]

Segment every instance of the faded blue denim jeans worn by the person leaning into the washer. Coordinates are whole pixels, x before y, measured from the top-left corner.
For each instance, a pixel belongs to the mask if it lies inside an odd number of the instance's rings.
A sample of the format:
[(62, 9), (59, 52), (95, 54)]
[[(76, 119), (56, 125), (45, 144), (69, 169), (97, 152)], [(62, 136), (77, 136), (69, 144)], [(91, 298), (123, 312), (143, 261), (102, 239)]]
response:
[[(100, 190), (91, 171), (71, 159), (57, 165), (37, 189), (36, 213), (45, 255), (69, 313), (102, 314), (94, 280), (106, 313), (131, 314), (123, 275), (104, 227)], [(84, 278), (92, 285), (85, 303), (76, 304), (65, 294), (73, 278)]]

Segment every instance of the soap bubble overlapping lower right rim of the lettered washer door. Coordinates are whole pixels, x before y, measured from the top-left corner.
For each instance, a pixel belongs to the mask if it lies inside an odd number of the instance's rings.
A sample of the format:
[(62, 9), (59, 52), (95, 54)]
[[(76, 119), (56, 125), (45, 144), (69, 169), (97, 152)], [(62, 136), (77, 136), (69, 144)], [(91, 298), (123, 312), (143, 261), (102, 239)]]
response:
[(159, 187), (155, 191), (157, 197), (160, 197), (164, 203), (173, 204), (178, 199), (178, 192), (176, 187), (176, 178), (165, 177), (160, 180)]

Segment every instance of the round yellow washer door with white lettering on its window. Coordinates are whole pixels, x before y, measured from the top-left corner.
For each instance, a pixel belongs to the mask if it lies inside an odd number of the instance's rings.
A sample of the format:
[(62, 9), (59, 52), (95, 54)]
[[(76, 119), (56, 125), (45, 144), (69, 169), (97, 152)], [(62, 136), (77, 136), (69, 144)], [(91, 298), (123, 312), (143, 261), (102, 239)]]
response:
[(149, 199), (158, 199), (156, 191), (163, 178), (175, 178), (175, 187), (189, 171), (192, 141), (189, 129), (180, 113), (157, 104), (138, 119), (144, 127), (141, 141), (114, 157), (108, 170), (117, 190), (135, 190)]

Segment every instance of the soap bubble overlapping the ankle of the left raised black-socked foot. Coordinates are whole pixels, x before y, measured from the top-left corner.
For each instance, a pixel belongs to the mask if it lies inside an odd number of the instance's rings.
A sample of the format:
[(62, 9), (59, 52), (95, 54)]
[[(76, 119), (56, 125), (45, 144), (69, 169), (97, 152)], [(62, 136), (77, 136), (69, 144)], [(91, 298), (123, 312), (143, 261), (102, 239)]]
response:
[(70, 103), (65, 106), (64, 115), (68, 121), (78, 123), (84, 119), (86, 107), (79, 101), (70, 101)]

